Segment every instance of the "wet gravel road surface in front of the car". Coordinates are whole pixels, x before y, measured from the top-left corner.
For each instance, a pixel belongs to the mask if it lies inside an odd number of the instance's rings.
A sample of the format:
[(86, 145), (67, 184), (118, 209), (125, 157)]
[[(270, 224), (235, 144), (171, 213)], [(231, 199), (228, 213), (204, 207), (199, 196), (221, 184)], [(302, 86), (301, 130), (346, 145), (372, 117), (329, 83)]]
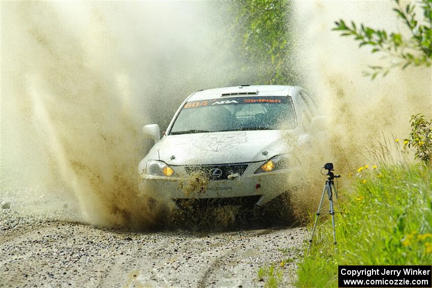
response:
[(0, 209), (1, 287), (261, 287), (260, 267), (294, 259), (281, 268), (281, 284), (292, 286), (306, 234), (241, 227), (131, 232), (67, 220), (75, 209)]

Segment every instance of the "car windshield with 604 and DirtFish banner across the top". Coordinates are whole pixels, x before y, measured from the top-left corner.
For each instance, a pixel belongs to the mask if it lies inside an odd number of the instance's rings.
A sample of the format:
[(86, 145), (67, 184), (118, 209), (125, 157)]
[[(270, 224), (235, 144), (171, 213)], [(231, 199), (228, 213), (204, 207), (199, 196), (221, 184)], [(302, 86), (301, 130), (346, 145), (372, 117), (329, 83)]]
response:
[(170, 135), (242, 131), (290, 130), (297, 120), (290, 97), (236, 97), (184, 104)]

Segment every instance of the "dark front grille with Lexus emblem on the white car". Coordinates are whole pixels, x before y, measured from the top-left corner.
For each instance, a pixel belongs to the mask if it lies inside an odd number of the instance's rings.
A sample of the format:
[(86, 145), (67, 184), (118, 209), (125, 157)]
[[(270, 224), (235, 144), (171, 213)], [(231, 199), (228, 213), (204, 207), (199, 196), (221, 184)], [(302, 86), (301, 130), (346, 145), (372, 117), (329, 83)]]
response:
[(188, 174), (194, 172), (202, 173), (209, 180), (234, 180), (240, 178), (244, 171), (246, 171), (246, 168), (248, 168), (248, 164), (186, 166), (184, 170)]

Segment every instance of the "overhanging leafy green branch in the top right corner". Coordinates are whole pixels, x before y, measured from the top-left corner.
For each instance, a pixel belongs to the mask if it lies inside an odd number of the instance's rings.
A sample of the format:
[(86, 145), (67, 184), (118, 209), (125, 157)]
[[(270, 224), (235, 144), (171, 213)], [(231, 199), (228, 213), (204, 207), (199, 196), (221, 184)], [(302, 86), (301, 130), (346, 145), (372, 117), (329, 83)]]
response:
[(372, 53), (381, 52), (387, 57), (396, 59), (388, 66), (369, 66), (372, 72), (365, 75), (374, 79), (378, 74), (387, 75), (395, 67), (424, 66), (430, 67), (432, 62), (432, 0), (421, 0), (423, 21), (419, 21), (415, 14), (415, 4), (408, 3), (405, 8), (395, 0), (397, 8), (393, 11), (403, 20), (410, 30), (411, 37), (404, 38), (399, 33), (387, 33), (385, 30), (356, 25), (353, 21), (348, 25), (344, 20), (335, 22), (333, 30), (342, 31), (342, 36), (352, 36), (359, 41), (359, 46), (372, 47)]

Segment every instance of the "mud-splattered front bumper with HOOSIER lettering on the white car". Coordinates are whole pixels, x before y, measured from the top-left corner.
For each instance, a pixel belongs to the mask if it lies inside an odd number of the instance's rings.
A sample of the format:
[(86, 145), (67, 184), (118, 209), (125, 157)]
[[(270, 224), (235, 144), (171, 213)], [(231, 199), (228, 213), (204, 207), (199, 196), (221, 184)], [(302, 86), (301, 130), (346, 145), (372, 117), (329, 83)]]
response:
[[(175, 167), (177, 177), (144, 175), (139, 183), (140, 194), (153, 198), (171, 209), (177, 209), (180, 199), (225, 199), (250, 197), (261, 206), (289, 189), (289, 170), (254, 174), (265, 162), (250, 163), (240, 178), (233, 180), (208, 180), (203, 189), (190, 189), (188, 175)], [(193, 179), (192, 179), (193, 180)], [(186, 188), (185, 188), (186, 187)], [(251, 197), (254, 196), (254, 197)]]

